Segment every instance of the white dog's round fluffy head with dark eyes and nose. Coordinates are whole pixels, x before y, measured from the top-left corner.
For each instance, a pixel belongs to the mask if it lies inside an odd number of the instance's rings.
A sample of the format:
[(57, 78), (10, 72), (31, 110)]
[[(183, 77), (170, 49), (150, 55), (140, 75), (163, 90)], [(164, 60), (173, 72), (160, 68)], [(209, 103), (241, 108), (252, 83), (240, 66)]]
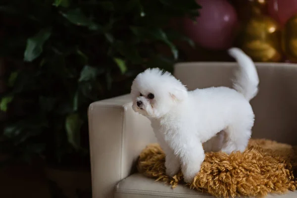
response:
[(169, 72), (147, 69), (133, 81), (133, 109), (149, 118), (159, 118), (188, 97), (185, 86)]

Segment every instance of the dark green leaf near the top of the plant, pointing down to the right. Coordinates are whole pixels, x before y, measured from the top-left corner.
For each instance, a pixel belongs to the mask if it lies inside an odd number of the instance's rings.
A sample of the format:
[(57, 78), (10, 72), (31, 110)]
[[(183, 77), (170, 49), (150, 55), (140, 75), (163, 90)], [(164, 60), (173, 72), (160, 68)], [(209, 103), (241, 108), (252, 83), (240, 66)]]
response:
[(90, 30), (101, 30), (102, 28), (93, 22), (91, 19), (86, 17), (82, 11), (78, 8), (71, 9), (66, 13), (62, 13), (62, 15), (68, 19), (71, 23), (77, 26), (85, 26), (88, 27)]

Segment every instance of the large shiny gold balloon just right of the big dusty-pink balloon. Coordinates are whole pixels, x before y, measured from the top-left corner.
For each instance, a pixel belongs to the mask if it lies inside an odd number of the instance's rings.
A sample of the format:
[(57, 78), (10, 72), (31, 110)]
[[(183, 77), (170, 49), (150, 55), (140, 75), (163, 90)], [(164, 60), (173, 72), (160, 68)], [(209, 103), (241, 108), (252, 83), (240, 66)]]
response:
[(240, 48), (257, 62), (278, 62), (282, 58), (280, 29), (270, 17), (254, 15), (243, 25)]

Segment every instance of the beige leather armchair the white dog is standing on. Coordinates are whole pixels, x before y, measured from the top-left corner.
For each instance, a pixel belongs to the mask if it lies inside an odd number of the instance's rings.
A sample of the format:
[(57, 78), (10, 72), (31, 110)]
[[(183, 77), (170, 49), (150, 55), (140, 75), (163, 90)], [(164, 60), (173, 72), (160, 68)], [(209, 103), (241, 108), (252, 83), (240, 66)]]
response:
[[(237, 63), (180, 63), (175, 76), (189, 90), (231, 86)], [(296, 145), (297, 65), (258, 63), (259, 93), (251, 104), (255, 112), (253, 138)], [(131, 108), (129, 95), (94, 102), (89, 107), (93, 198), (212, 198), (179, 186), (172, 190), (135, 173), (138, 154), (156, 142), (147, 118)], [(273, 196), (275, 197), (275, 196)], [(292, 192), (275, 198), (297, 198)]]

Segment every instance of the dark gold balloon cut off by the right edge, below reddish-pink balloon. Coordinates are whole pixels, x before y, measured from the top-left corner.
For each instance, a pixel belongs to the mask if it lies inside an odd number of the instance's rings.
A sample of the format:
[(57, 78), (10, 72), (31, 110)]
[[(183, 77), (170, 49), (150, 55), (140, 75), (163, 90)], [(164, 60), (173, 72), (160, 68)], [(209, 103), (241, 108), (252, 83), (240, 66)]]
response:
[(282, 49), (289, 60), (297, 62), (297, 16), (290, 18), (284, 27)]

